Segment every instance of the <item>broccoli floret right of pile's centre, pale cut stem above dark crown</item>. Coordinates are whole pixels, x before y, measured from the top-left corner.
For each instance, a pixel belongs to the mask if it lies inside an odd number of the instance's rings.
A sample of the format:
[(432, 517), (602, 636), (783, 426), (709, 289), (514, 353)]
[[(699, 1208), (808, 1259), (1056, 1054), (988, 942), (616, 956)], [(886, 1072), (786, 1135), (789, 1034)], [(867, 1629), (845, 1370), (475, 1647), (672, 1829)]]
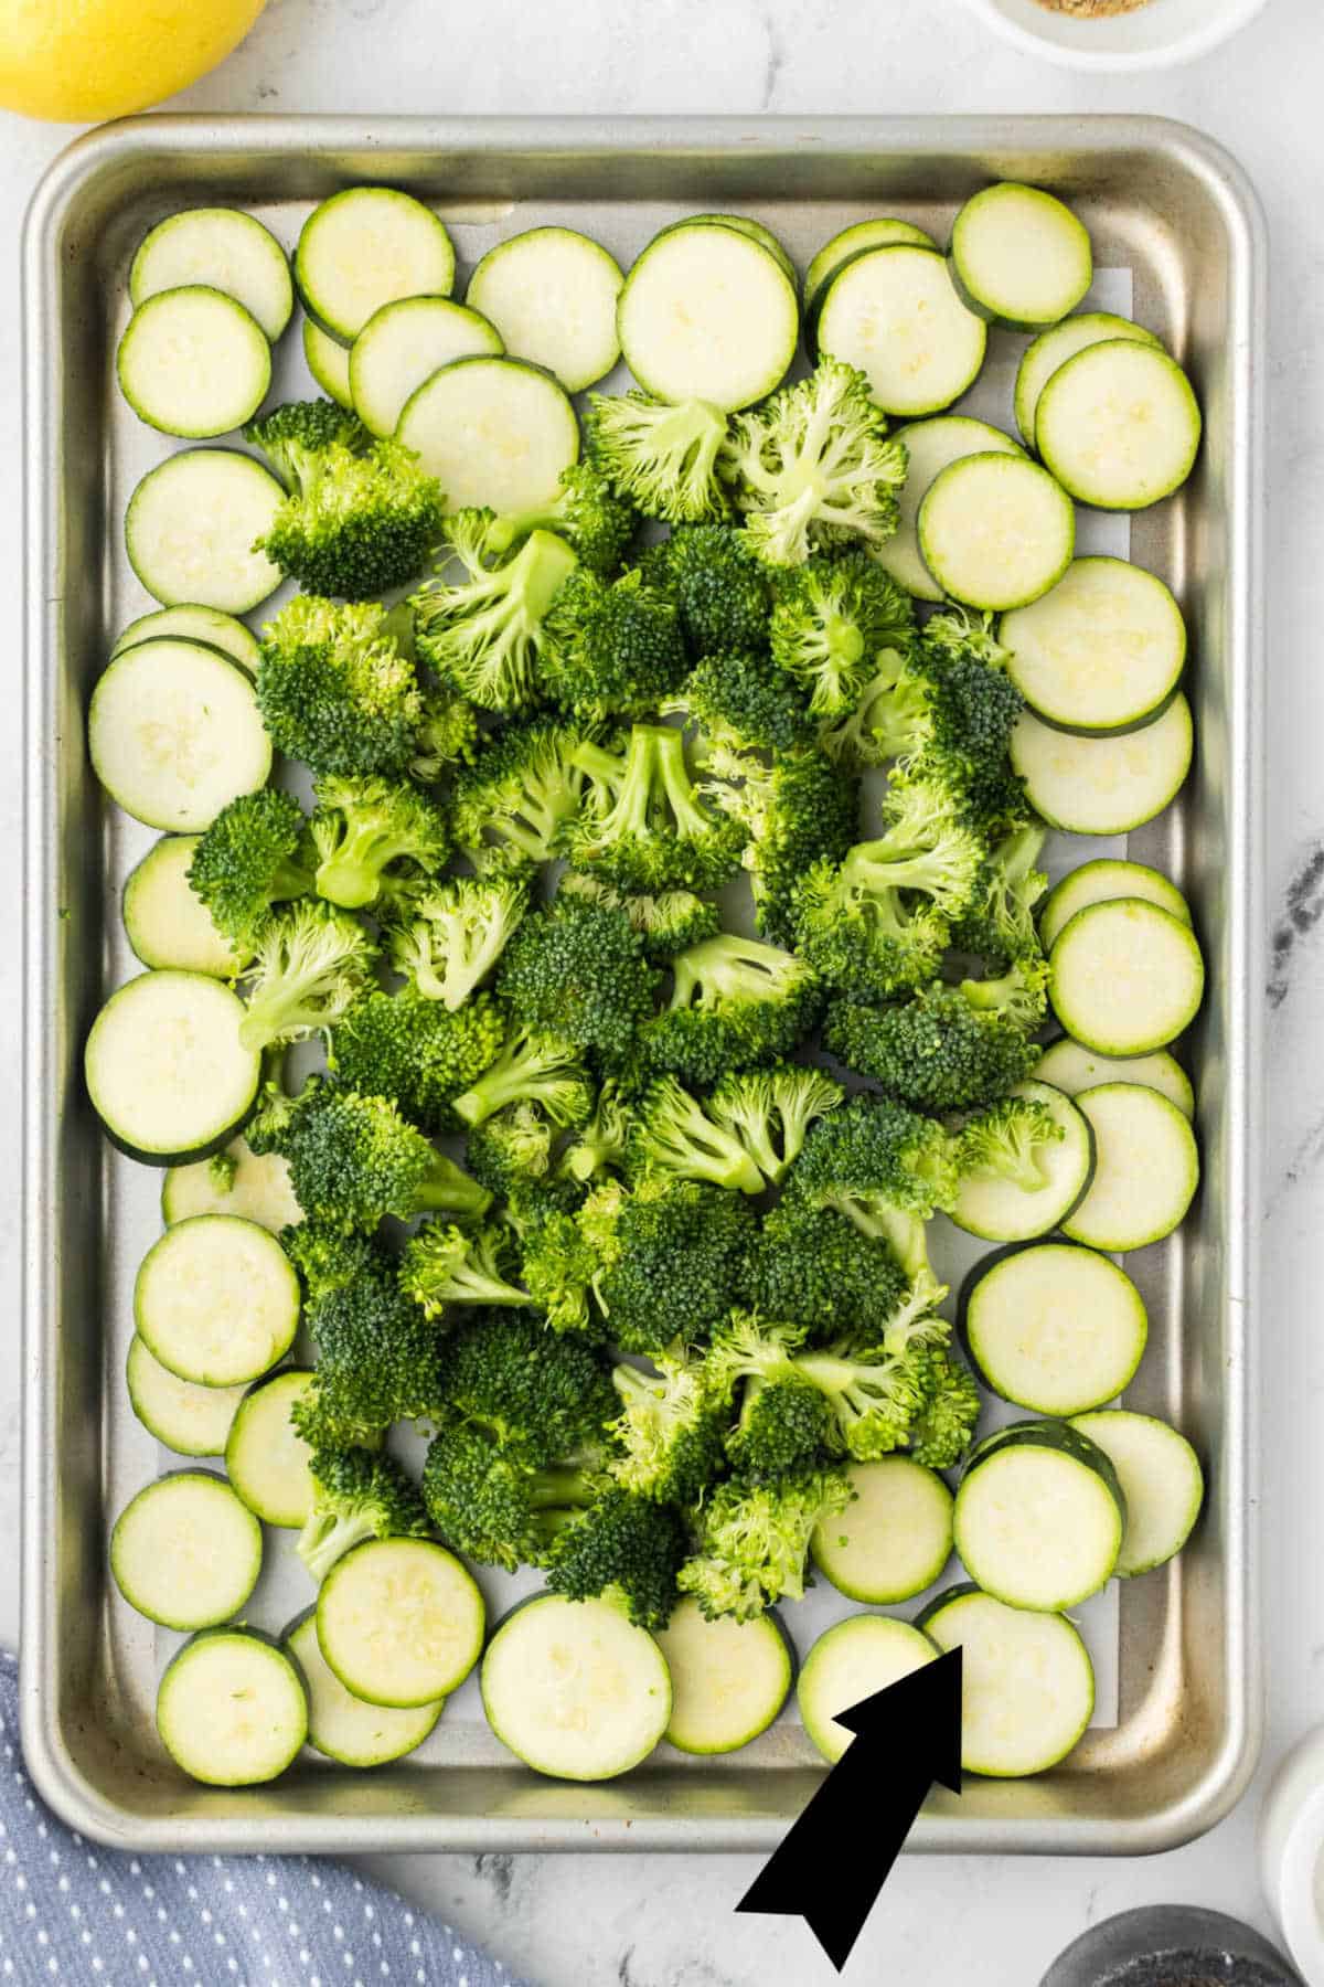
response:
[(669, 1007), (647, 1023), (643, 1043), (657, 1069), (717, 1083), (728, 1069), (790, 1055), (818, 1003), (804, 960), (723, 932), (673, 960)]

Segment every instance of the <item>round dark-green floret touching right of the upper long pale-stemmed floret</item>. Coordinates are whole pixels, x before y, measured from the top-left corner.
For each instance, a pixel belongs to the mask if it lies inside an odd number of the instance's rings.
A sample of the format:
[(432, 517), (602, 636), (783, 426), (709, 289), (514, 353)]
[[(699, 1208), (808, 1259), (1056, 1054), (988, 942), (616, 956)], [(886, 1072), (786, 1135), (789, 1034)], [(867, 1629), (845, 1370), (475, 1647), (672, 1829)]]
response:
[(576, 717), (645, 717), (685, 676), (675, 602), (635, 568), (619, 580), (574, 572), (546, 620), (540, 682)]

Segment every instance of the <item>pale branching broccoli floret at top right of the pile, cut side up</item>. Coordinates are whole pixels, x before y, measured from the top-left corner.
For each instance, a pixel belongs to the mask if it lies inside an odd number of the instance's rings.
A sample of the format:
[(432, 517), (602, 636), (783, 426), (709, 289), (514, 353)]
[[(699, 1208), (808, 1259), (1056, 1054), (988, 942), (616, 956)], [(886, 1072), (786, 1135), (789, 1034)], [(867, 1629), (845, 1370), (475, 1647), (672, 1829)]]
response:
[(858, 538), (881, 544), (897, 529), (905, 447), (887, 441), (865, 376), (840, 360), (734, 415), (721, 469), (768, 566)]

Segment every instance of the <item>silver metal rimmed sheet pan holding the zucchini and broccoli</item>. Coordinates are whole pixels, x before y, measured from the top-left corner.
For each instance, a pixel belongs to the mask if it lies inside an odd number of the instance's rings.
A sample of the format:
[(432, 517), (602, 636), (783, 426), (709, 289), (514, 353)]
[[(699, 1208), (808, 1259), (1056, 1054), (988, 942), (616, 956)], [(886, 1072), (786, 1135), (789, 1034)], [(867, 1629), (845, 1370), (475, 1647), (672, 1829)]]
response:
[[(129, 964), (117, 918), (145, 837), (107, 807), (83, 709), (109, 636), (147, 602), (119, 546), (123, 501), (161, 453), (117, 399), (113, 348), (135, 242), (163, 215), (234, 201), (294, 240), (341, 185), (411, 187), (466, 262), (498, 232), (562, 219), (629, 256), (657, 225), (732, 207), (804, 266), (869, 213), (943, 232), (993, 177), (1044, 183), (1086, 219), (1098, 262), (1191, 370), (1205, 447), (1187, 489), (1135, 519), (1131, 550), (1193, 630), (1199, 725), (1181, 803), (1131, 839), (1187, 890), (1211, 964), (1191, 1035), (1205, 1186), (1181, 1238), (1131, 1258), (1151, 1343), (1127, 1403), (1167, 1415), (1209, 1464), (1183, 1558), (1120, 1594), (1118, 1719), (1038, 1780), (941, 1794), (911, 1846), (1141, 1854), (1209, 1828), (1258, 1747), (1253, 1540), (1258, 1178), (1260, 642), (1258, 338), (1262, 229), (1243, 175), (1193, 131), (1145, 117), (347, 119), (151, 117), (77, 141), (26, 232), (26, 1065), (24, 1747), (83, 1834), (139, 1850), (768, 1850), (822, 1778), (786, 1721), (727, 1762), (667, 1749), (619, 1784), (520, 1768), (480, 1723), (443, 1719), (413, 1762), (298, 1766), (272, 1788), (183, 1780), (151, 1723), (161, 1651), (113, 1594), (107, 1528), (157, 1466), (121, 1383), (133, 1268), (155, 1182), (115, 1158), (81, 1089), (83, 1033)], [(258, 1604), (262, 1602), (262, 1590)], [(266, 1615), (256, 1607), (256, 1617)], [(276, 1615), (276, 1621), (280, 1617)]]

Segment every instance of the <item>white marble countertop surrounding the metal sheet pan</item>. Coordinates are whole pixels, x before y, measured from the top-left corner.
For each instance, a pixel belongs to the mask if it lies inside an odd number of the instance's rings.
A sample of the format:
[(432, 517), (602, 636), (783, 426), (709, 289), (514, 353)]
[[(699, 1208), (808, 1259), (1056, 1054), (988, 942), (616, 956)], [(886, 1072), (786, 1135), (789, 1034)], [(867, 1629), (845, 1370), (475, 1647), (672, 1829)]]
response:
[[(272, 0), (244, 48), (169, 107), (214, 111), (1155, 111), (1243, 161), (1268, 211), (1268, 904), (1286, 938), (1268, 1027), (1262, 1417), (1268, 1735), (1255, 1790), (1213, 1834), (1145, 1862), (907, 1858), (848, 1969), (901, 1987), (1034, 1987), (1086, 1923), (1145, 1902), (1266, 1927), (1255, 1816), (1266, 1772), (1324, 1719), (1324, 36), (1320, 0), (1270, 0), (1187, 70), (1080, 77), (994, 42), (959, 0)], [(0, 232), (71, 133), (0, 113)], [(20, 449), (18, 286), (0, 286), (0, 459)], [(0, 483), (0, 596), (18, 644), (16, 479)], [(14, 668), (18, 656), (14, 654)], [(16, 733), (0, 729), (0, 833), (18, 846)], [(0, 1067), (18, 1065), (18, 962), (0, 964)], [(18, 1168), (14, 1113), (0, 1176)], [(18, 1238), (0, 1204), (18, 1331)], [(18, 1357), (0, 1367), (0, 1538), (18, 1530)], [(18, 1631), (0, 1556), (0, 1639)], [(393, 1858), (377, 1874), (445, 1911), (536, 1987), (804, 1987), (832, 1973), (802, 1925), (734, 1917), (744, 1858)], [(1320, 1983), (1312, 1983), (1320, 1987)]]

